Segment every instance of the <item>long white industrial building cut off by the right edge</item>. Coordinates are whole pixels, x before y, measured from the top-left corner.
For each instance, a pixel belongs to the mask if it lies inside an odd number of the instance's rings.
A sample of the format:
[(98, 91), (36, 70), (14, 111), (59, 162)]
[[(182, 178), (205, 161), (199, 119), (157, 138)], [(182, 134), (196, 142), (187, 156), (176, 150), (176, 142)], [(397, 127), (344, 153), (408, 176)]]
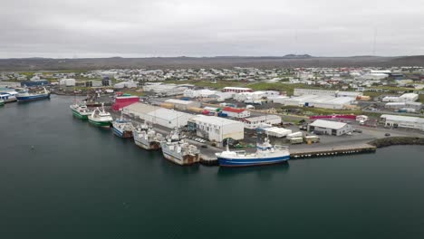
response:
[(385, 127), (424, 130), (423, 118), (383, 114), (381, 115), (380, 119)]

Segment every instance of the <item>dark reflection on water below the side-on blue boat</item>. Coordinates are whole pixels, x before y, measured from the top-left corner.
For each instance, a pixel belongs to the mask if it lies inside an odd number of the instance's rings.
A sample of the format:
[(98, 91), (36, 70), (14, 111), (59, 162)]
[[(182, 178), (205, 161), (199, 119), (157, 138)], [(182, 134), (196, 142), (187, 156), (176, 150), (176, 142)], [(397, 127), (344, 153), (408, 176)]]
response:
[(275, 174), (285, 174), (290, 165), (287, 161), (275, 165), (253, 166), (253, 167), (219, 167), (217, 175), (219, 177), (236, 177), (239, 175), (253, 175), (259, 177), (273, 176)]

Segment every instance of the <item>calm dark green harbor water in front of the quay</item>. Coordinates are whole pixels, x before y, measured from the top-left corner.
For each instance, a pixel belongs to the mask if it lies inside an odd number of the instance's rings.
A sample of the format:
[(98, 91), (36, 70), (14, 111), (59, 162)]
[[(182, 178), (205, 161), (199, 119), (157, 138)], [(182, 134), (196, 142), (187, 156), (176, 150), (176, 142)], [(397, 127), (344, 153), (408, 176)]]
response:
[(0, 238), (424, 238), (424, 148), (180, 167), (72, 117), (0, 108)]

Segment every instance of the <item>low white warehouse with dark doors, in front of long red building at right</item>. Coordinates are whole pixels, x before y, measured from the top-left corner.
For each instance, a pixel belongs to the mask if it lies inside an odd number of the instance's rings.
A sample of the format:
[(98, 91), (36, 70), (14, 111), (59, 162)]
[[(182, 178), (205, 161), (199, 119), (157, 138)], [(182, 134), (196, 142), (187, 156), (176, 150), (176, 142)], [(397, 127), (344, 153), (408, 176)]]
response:
[(331, 120), (316, 119), (308, 125), (308, 131), (313, 131), (316, 134), (326, 134), (341, 136), (352, 132), (352, 126), (347, 123), (336, 122)]

